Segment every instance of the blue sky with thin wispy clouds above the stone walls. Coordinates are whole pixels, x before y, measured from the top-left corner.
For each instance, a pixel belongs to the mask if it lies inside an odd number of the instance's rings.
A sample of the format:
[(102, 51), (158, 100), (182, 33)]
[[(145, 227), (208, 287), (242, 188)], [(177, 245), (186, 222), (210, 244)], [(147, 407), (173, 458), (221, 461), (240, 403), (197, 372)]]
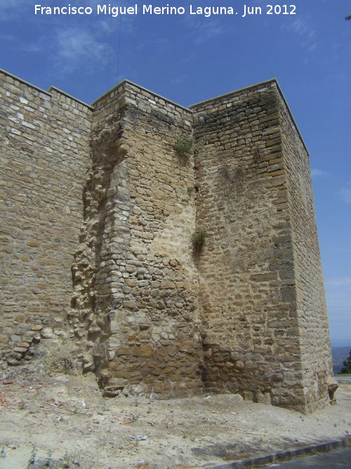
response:
[[(86, 103), (125, 78), (185, 106), (277, 78), (310, 151), (332, 345), (351, 347), (351, 0), (291, 0), (295, 15), (246, 1), (168, 0), (185, 14), (143, 15), (167, 1), (111, 0), (138, 4), (112, 18), (97, 15), (103, 0), (0, 0), (0, 68)], [(93, 13), (35, 15), (35, 4)], [(262, 14), (243, 18), (244, 4)]]

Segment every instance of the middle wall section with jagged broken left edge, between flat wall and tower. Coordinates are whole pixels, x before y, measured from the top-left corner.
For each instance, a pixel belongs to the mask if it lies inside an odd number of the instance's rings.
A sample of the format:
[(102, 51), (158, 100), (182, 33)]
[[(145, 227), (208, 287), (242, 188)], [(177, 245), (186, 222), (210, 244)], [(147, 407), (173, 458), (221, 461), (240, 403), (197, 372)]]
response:
[(192, 115), (131, 84), (96, 105), (71, 332), (84, 370), (108, 392), (122, 383), (194, 394), (202, 366), (194, 173), (173, 149), (192, 134)]

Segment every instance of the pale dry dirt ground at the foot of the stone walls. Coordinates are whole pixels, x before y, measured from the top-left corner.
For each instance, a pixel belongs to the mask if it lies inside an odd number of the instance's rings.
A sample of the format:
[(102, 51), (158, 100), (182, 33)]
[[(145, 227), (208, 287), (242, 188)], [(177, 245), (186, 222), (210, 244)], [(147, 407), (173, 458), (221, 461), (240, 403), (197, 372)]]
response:
[(102, 397), (93, 375), (0, 381), (0, 468), (183, 469), (351, 435), (351, 383), (312, 416), (238, 395)]

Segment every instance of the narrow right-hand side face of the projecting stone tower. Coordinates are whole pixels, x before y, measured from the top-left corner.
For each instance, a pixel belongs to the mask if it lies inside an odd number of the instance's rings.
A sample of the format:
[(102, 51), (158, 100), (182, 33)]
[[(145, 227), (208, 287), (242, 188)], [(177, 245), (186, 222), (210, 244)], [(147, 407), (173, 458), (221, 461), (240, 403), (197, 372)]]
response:
[(282, 95), (278, 107), (291, 207), (295, 272), (291, 296), (295, 297), (298, 317), (303, 397), (307, 408), (314, 410), (328, 400), (327, 380), (332, 374), (332, 361), (310, 162)]

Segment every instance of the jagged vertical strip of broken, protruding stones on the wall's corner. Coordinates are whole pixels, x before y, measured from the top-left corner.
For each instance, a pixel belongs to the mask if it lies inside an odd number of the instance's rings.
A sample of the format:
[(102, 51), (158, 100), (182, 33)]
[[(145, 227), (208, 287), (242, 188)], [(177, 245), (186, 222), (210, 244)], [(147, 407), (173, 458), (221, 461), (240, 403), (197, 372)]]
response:
[(84, 223), (72, 266), (74, 295), (69, 312), (77, 352), (84, 353), (84, 371), (105, 363), (110, 317), (124, 297), (119, 288), (121, 259), (129, 245), (127, 163), (121, 148), (121, 113), (95, 125), (91, 139), (93, 165), (84, 188)]

